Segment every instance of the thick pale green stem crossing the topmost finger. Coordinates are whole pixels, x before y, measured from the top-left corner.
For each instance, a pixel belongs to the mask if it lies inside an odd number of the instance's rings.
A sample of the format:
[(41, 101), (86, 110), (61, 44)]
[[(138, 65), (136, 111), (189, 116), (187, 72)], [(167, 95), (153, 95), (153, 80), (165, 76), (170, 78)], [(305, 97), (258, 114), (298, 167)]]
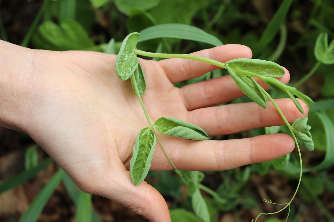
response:
[(158, 58), (176, 58), (176, 59), (191, 59), (196, 61), (201, 61), (205, 63), (209, 63), (221, 68), (225, 68), (224, 63), (218, 62), (213, 59), (205, 58), (202, 56), (195, 56), (195, 55), (187, 55), (187, 54), (165, 54), (165, 53), (153, 53), (153, 52), (145, 52), (139, 49), (135, 49), (136, 55), (147, 56), (147, 57), (158, 57)]

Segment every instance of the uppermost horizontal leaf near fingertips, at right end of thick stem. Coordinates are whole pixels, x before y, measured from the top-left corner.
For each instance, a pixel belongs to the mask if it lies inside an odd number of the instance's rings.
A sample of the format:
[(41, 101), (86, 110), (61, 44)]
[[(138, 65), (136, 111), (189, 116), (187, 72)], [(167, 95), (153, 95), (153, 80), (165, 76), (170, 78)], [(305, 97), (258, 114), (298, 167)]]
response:
[(254, 77), (252, 73), (273, 78), (279, 78), (285, 74), (285, 70), (282, 66), (271, 61), (260, 59), (233, 59), (227, 61), (225, 65), (228, 65), (237, 73), (242, 73), (249, 77)]

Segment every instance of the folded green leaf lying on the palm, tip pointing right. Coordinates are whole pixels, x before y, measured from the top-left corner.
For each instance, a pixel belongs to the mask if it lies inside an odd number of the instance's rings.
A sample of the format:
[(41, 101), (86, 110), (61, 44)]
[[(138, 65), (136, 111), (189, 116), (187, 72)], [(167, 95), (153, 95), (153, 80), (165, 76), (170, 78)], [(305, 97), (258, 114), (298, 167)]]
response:
[(161, 117), (155, 121), (154, 127), (164, 135), (194, 140), (209, 139), (208, 134), (199, 126), (177, 118)]

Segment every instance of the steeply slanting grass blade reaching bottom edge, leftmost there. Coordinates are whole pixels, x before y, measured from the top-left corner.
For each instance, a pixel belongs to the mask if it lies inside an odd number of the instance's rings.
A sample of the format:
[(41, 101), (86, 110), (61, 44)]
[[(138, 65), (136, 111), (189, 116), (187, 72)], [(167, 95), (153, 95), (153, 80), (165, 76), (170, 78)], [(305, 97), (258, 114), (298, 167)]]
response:
[(52, 177), (52, 179), (45, 185), (45, 187), (32, 201), (28, 210), (23, 214), (19, 222), (35, 222), (38, 220), (38, 217), (42, 212), (45, 204), (49, 200), (51, 194), (56, 189), (64, 175), (65, 171), (59, 168), (57, 173)]

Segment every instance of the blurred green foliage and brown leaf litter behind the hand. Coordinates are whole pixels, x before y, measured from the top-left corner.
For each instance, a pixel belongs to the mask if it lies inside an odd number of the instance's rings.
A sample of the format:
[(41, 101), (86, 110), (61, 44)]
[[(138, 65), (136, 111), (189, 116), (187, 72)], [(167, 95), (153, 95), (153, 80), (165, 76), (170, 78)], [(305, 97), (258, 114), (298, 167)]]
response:
[[(302, 153), (305, 173), (289, 221), (334, 221), (332, 0), (2, 0), (0, 12), (1, 39), (35, 49), (105, 52), (111, 47), (117, 53), (128, 33), (180, 23), (204, 30), (224, 44), (247, 45), (253, 58), (286, 67), (291, 74), (290, 85), (317, 102), (311, 107), (308, 122), (315, 151)], [(162, 38), (139, 43), (139, 47), (152, 52), (190, 53), (212, 46)], [(221, 75), (226, 73), (211, 72), (177, 86)], [(270, 93), (274, 98), (282, 97)], [(239, 102), (249, 100), (233, 101)], [(279, 131), (287, 130), (268, 127), (213, 139)], [(79, 191), (27, 135), (2, 129), (0, 145), (1, 221), (145, 221), (116, 203)], [(251, 221), (262, 211), (278, 210), (279, 206), (262, 199), (289, 201), (298, 179), (296, 156), (293, 152), (273, 161), (205, 172), (204, 179), (198, 173), (198, 180), (203, 179), (209, 188), (202, 194), (211, 221)], [(173, 221), (200, 221), (189, 197), (197, 195), (198, 187), (187, 190), (173, 171), (150, 172), (148, 176), (147, 181), (164, 195)], [(211, 195), (210, 190), (218, 195)], [(15, 204), (17, 201), (22, 204)], [(263, 218), (281, 221), (274, 217), (283, 219), (285, 212)]]

